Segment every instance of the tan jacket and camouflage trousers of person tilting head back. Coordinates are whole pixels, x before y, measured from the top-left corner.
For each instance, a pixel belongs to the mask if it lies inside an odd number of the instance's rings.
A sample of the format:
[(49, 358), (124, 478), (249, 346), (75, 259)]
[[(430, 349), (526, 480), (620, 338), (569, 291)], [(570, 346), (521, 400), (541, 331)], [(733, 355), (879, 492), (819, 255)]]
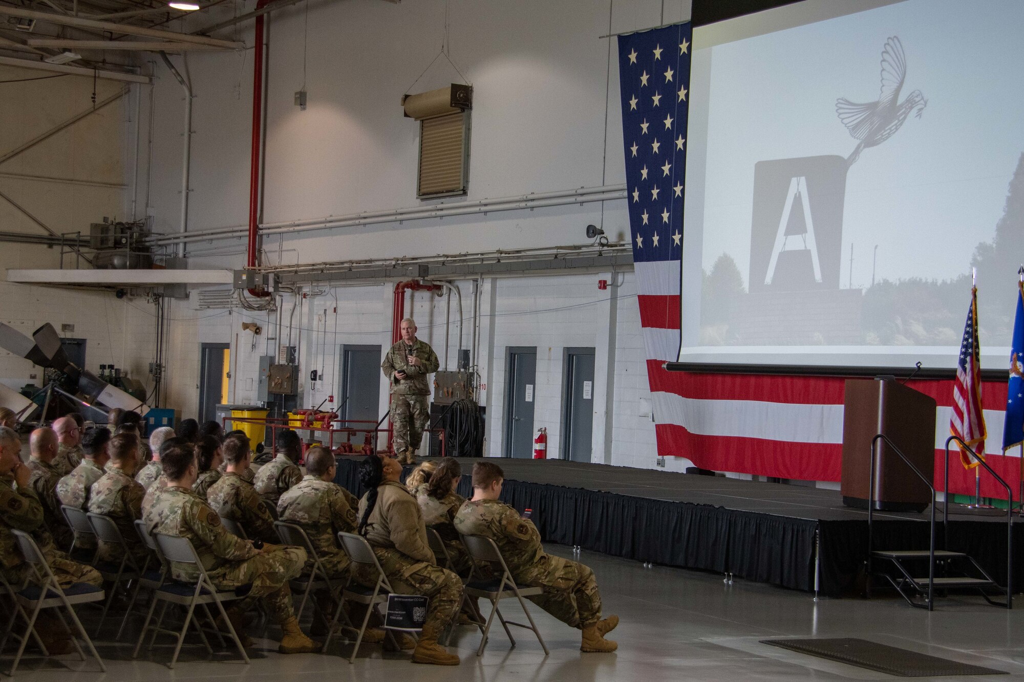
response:
[[(427, 545), (427, 528), (420, 507), (406, 486), (385, 481), (377, 493), (377, 504), (366, 528), (367, 541), (394, 592), (430, 598), (424, 631), (441, 632), (459, 609), (462, 581), (436, 565), (434, 553)], [(364, 496), (359, 501), (359, 518), (366, 509), (367, 496)], [(377, 583), (376, 572), (372, 565), (355, 564), (352, 578), (372, 588)]]

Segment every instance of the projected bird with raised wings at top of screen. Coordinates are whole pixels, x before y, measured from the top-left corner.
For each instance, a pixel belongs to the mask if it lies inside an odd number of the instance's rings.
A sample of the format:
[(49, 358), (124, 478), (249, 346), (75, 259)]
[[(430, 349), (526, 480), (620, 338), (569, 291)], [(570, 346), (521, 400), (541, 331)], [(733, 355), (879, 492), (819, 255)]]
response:
[(897, 36), (886, 41), (882, 50), (882, 92), (878, 101), (858, 103), (846, 97), (836, 100), (836, 113), (854, 139), (860, 140), (853, 153), (847, 157), (847, 165), (852, 165), (860, 153), (878, 146), (892, 137), (911, 113), (921, 118), (928, 100), (921, 90), (914, 90), (903, 101), (899, 93), (906, 79), (906, 55), (903, 44)]

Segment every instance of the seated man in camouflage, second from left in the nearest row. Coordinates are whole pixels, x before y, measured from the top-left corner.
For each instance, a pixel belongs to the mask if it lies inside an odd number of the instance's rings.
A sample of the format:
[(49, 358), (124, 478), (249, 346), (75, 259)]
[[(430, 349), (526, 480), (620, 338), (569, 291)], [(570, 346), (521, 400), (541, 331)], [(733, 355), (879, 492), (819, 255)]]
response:
[[(302, 571), (306, 551), (301, 547), (278, 545), (261, 545), (261, 549), (256, 549), (251, 542), (227, 532), (217, 512), (191, 491), (199, 467), (196, 450), (189, 443), (165, 447), (161, 462), (167, 487), (157, 494), (145, 513), (145, 527), (150, 532), (187, 538), (215, 587), (245, 592), (248, 596), (244, 602), (262, 598), (284, 633), (278, 648), (281, 653), (308, 653), (318, 648), (299, 630), (292, 608), (292, 591), (288, 587), (288, 582)], [(199, 576), (193, 564), (171, 562), (170, 567), (175, 580), (191, 582)], [(250, 643), (240, 629), (246, 605), (239, 604), (228, 611), (228, 619), (243, 645)]]

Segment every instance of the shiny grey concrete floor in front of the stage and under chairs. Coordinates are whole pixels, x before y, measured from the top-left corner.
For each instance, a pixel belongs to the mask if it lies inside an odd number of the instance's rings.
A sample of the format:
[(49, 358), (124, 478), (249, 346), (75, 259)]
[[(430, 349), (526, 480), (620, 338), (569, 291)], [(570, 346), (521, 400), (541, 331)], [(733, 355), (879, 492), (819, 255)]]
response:
[[(571, 556), (571, 550), (550, 546), (549, 551)], [(582, 560), (594, 568), (601, 587), (605, 613), (617, 613), (622, 624), (611, 635), (620, 644), (614, 653), (584, 654), (579, 631), (532, 608), (551, 655), (545, 657), (528, 631), (513, 629), (514, 649), (499, 629), (482, 657), (477, 658), (477, 631), (458, 629), (453, 645), (462, 656), (458, 668), (414, 666), (409, 654), (382, 653), (379, 645), (366, 645), (354, 665), (340, 654), (276, 653), (271, 639), (251, 634), (257, 645), (246, 666), (232, 653), (206, 655), (202, 646), (188, 645), (174, 671), (166, 662), (171, 647), (162, 638), (152, 653), (143, 649), (131, 660), (132, 646), (111, 642), (115, 626), (104, 626), (97, 647), (108, 664), (106, 675), (92, 672), (94, 662), (81, 663), (74, 655), (59, 660), (29, 658), (17, 674), (31, 682), (78, 680), (216, 680), (244, 677), (250, 680), (291, 682), (330, 675), (332, 680), (393, 682), (401, 677), (417, 680), (876, 680), (890, 676), (793, 653), (758, 640), (772, 637), (860, 637), (892, 646), (975, 664), (1012, 673), (1024, 679), (1024, 609), (1007, 611), (985, 604), (981, 598), (942, 600), (929, 613), (907, 606), (901, 599), (882, 597), (822, 599), (765, 585), (675, 568), (645, 569), (625, 559), (583, 552)], [(1022, 602), (1024, 607), (1024, 602)], [(506, 617), (520, 620), (517, 606), (503, 608)], [(94, 623), (93, 609), (82, 608), (86, 627)], [(308, 611), (307, 611), (308, 613)], [(520, 617), (517, 619), (516, 616)], [(308, 621), (308, 615), (305, 619)], [(140, 622), (139, 622), (140, 624)], [(136, 627), (140, 627), (136, 626)], [(91, 632), (91, 628), (90, 628)], [(275, 637), (270, 628), (263, 636)], [(126, 635), (129, 637), (129, 635)], [(9, 668), (9, 655), (0, 669)], [(81, 672), (79, 672), (81, 671)], [(938, 678), (950, 680), (954, 678)], [(969, 677), (969, 680), (1007, 680), (1006, 675)]]

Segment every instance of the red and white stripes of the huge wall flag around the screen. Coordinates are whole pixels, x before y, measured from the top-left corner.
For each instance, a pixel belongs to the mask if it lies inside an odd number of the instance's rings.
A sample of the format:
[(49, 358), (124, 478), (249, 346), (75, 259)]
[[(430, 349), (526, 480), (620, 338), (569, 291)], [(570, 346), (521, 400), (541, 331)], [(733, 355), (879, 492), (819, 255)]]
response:
[[(654, 407), (657, 454), (685, 457), (716, 471), (802, 480), (840, 480), (843, 397), (840, 377), (691, 374), (666, 372), (679, 349), (679, 261), (635, 264), (640, 319), (647, 350), (647, 378)], [(911, 381), (908, 386), (935, 398), (935, 478), (943, 484), (944, 443), (953, 412), (953, 380)], [(981, 407), (990, 428), (1001, 431), (1006, 382), (985, 382)], [(986, 462), (1016, 492), (1018, 452), (998, 450)], [(959, 465), (953, 449), (950, 489), (974, 494), (974, 473)], [(989, 476), (982, 495), (1006, 497)]]

